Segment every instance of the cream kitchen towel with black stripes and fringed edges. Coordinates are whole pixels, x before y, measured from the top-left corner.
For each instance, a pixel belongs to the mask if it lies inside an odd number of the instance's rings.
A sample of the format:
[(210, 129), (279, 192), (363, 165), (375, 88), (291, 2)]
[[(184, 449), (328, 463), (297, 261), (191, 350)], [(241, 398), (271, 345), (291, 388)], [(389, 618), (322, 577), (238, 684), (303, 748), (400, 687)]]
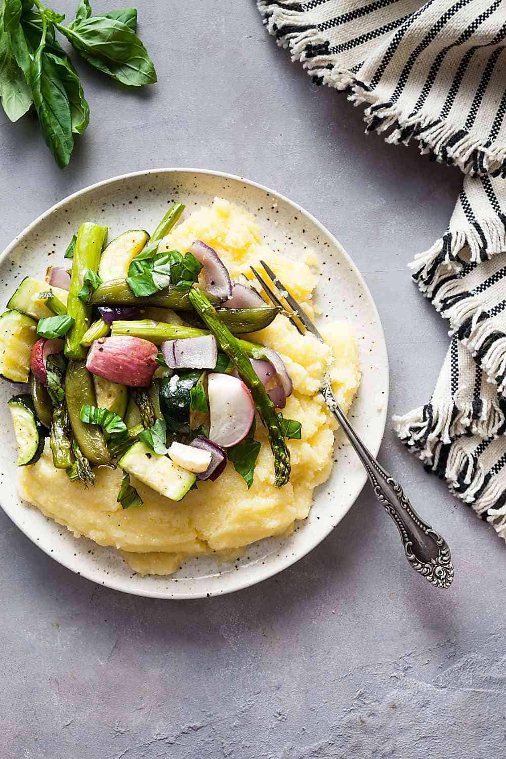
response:
[(366, 131), (464, 172), (448, 230), (411, 264), (451, 345), (426, 405), (394, 421), (426, 469), (506, 539), (506, 0), (258, 0)]

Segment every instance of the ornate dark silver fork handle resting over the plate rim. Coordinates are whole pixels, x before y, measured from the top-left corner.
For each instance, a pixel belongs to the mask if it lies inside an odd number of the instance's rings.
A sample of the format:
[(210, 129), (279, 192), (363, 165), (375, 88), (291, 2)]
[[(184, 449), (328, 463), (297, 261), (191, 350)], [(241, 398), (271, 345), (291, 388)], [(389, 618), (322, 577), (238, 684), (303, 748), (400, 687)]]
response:
[(416, 514), (398, 481), (366, 449), (339, 408), (331, 387), (324, 386), (322, 395), (366, 468), (376, 498), (397, 525), (408, 562), (415, 572), (419, 572), (433, 585), (450, 587), (454, 567), (445, 538)]

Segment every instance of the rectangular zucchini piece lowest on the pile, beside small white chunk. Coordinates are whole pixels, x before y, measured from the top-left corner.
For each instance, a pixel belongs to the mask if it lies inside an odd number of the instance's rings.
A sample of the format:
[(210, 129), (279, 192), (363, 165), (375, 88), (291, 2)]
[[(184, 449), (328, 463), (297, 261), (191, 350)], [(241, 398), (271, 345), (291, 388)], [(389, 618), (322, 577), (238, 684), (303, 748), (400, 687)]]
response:
[(193, 472), (174, 464), (168, 456), (153, 453), (143, 442), (134, 443), (118, 466), (171, 501), (181, 501), (196, 480)]

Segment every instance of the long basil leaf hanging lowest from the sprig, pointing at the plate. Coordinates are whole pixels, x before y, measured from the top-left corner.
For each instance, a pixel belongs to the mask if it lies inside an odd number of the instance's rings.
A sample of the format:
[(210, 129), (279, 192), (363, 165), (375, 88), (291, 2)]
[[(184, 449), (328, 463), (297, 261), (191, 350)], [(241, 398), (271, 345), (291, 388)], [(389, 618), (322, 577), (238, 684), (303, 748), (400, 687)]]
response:
[(71, 106), (58, 68), (48, 55), (44, 55), (44, 44), (45, 37), (42, 34), (40, 45), (31, 61), (29, 83), (42, 136), (58, 167), (64, 168), (74, 150)]

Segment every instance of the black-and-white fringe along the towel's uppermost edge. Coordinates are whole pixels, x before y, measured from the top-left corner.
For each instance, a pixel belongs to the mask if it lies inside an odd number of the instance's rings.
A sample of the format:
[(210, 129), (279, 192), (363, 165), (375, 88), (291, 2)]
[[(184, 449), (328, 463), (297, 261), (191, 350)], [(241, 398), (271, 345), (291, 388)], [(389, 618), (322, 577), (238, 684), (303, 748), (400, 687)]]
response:
[(393, 144), (407, 145), (410, 140), (417, 140), (420, 153), (440, 163), (457, 165), (465, 174), (506, 177), (504, 145), (482, 140), (448, 119), (422, 112), (405, 113), (396, 104), (383, 102), (373, 94), (369, 84), (354, 71), (338, 67), (327, 53), (328, 40), (318, 26), (307, 24), (306, 14), (310, 11), (304, 11), (299, 0), (257, 0), (256, 5), (278, 46), (289, 48), (292, 61), (300, 61), (316, 83), (346, 90), (355, 106), (368, 105), (364, 112), (366, 132), (389, 131), (385, 142)]

